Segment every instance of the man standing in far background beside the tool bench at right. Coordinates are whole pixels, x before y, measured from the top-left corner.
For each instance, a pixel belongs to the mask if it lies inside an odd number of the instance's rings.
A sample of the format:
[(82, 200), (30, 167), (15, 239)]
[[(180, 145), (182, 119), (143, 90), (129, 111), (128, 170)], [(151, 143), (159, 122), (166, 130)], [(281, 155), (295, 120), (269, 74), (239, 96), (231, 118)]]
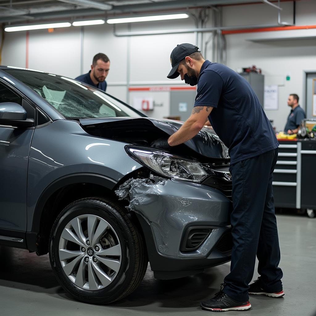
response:
[(284, 127), (284, 132), (287, 134), (296, 134), (298, 132), (300, 122), (306, 118), (304, 110), (298, 104), (298, 95), (290, 94), (288, 97), (288, 106), (292, 108), (288, 121)]

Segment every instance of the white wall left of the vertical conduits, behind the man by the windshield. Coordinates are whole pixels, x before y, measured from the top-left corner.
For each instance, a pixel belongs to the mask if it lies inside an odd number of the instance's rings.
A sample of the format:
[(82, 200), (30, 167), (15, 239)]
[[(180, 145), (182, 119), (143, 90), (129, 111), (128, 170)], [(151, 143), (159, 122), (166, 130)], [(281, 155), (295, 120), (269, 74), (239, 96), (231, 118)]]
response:
[[(131, 23), (130, 31), (193, 28), (191, 18), (185, 21), (154, 21)], [(126, 25), (117, 26), (117, 32), (126, 32)], [(106, 92), (130, 102), (128, 86), (184, 84), (179, 78), (167, 79), (171, 69), (170, 53), (183, 42), (194, 43), (194, 34), (166, 34), (155, 36), (116, 37), (109, 24), (29, 31), (28, 68), (75, 78), (90, 70), (96, 53), (105, 53), (111, 61), (106, 78)], [(81, 50), (82, 49), (82, 50)], [(129, 52), (129, 53), (128, 53)], [(2, 56), (3, 65), (26, 67), (26, 32), (6, 33)], [(138, 93), (142, 94), (142, 93)], [(161, 95), (160, 95), (161, 94)], [(150, 115), (169, 115), (166, 93), (156, 92), (155, 102), (164, 106)]]

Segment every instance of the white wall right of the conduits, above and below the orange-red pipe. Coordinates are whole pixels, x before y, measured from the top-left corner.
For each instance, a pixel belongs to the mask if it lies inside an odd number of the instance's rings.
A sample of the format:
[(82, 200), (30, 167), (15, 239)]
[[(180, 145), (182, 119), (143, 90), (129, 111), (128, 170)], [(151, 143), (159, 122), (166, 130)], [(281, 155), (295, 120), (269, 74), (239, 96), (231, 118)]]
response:
[[(293, 3), (282, 3), (281, 21), (293, 21)], [(260, 12), (260, 14), (258, 14)], [(241, 5), (224, 7), (223, 23), (232, 24), (271, 24), (276, 23), (276, 9), (268, 5)], [(296, 25), (315, 24), (316, 1), (296, 2)], [(244, 18), (243, 18), (244, 17)], [(247, 17), (247, 18), (246, 18)], [(243, 20), (243, 23), (240, 22)], [(278, 110), (265, 111), (269, 119), (274, 120), (276, 130), (283, 130), (289, 115), (287, 105), (288, 95), (296, 93), (300, 97), (300, 105), (305, 108), (303, 91), (303, 70), (316, 69), (316, 40), (265, 40), (260, 42), (248, 41), (255, 38), (284, 37), (287, 34), (311, 33), (316, 36), (316, 30), (295, 30), (260, 33), (240, 33), (225, 35), (227, 41), (227, 66), (238, 68), (256, 65), (261, 68), (265, 76), (265, 84), (277, 84), (279, 88)], [(286, 76), (290, 80), (286, 81)]]

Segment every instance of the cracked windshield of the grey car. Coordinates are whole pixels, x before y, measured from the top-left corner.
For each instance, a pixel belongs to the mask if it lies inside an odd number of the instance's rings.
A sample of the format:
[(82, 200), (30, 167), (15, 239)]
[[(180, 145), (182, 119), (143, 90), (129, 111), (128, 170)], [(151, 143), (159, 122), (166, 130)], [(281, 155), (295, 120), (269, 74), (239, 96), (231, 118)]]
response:
[(80, 81), (29, 70), (6, 69), (66, 118), (145, 116), (109, 94)]

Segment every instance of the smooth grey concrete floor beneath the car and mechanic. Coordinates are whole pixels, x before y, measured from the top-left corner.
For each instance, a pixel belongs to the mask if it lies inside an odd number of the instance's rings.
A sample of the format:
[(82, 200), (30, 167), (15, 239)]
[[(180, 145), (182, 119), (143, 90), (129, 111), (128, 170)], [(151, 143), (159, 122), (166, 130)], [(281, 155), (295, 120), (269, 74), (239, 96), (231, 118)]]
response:
[[(277, 216), (285, 297), (251, 296), (252, 309), (228, 315), (316, 315), (316, 218)], [(229, 263), (196, 276), (155, 280), (148, 267), (139, 288), (110, 306), (72, 300), (55, 280), (48, 255), (0, 247), (0, 315), (213, 315), (199, 302), (213, 296)], [(256, 268), (257, 269), (257, 268)], [(253, 279), (258, 276), (255, 271)], [(225, 314), (226, 315), (226, 314)]]

